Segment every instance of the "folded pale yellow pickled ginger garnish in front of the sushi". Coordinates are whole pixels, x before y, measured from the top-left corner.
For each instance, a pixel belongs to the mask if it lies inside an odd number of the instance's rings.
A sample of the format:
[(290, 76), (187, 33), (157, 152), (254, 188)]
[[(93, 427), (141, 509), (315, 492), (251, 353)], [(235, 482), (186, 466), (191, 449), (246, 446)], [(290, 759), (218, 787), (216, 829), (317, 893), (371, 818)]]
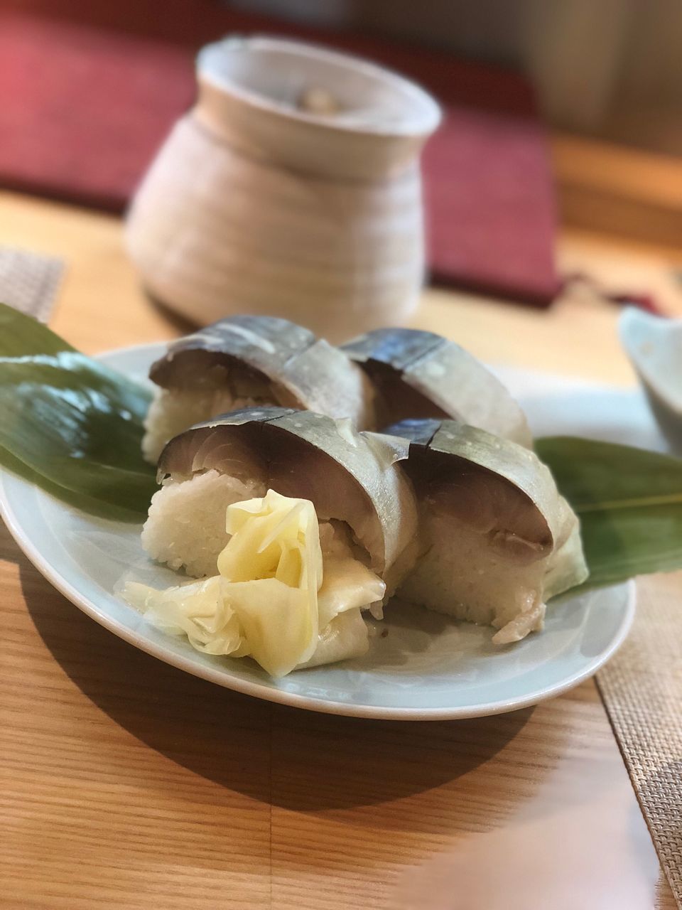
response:
[(313, 503), (268, 490), (227, 507), (218, 575), (166, 591), (131, 582), (125, 600), (198, 651), (251, 656), (273, 676), (356, 657), (369, 646), (360, 610), (386, 585), (324, 527), (323, 557)]

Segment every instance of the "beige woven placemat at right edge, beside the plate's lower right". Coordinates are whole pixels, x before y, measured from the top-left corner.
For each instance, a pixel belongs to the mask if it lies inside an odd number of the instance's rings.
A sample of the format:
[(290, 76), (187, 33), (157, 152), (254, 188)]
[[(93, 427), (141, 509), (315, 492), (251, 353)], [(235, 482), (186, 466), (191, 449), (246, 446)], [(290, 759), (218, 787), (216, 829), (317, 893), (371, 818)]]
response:
[(682, 907), (682, 572), (637, 581), (632, 631), (597, 685)]

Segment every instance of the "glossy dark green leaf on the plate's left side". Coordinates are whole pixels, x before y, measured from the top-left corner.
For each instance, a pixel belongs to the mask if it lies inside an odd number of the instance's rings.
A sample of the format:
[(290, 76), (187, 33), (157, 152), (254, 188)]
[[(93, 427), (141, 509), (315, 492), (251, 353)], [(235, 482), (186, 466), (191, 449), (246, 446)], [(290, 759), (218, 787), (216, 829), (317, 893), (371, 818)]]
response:
[(144, 519), (149, 392), (0, 304), (0, 463), (85, 511)]

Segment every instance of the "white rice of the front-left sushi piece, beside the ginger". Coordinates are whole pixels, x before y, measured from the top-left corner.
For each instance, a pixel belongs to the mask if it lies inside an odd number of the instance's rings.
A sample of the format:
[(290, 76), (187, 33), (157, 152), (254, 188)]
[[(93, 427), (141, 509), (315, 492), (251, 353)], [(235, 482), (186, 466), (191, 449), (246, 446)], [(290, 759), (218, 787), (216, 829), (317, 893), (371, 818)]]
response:
[(168, 480), (152, 497), (142, 546), (171, 569), (185, 568), (195, 578), (215, 575), (218, 554), (229, 540), (227, 506), (265, 495), (263, 483), (237, 480), (216, 470), (182, 483)]

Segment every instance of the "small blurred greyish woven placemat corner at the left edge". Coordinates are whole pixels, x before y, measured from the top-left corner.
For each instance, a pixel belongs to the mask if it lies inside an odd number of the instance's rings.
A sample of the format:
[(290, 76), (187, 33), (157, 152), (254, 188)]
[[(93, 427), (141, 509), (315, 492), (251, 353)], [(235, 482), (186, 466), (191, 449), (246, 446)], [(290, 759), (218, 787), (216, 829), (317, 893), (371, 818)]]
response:
[(0, 247), (0, 302), (46, 322), (63, 273), (61, 259)]

